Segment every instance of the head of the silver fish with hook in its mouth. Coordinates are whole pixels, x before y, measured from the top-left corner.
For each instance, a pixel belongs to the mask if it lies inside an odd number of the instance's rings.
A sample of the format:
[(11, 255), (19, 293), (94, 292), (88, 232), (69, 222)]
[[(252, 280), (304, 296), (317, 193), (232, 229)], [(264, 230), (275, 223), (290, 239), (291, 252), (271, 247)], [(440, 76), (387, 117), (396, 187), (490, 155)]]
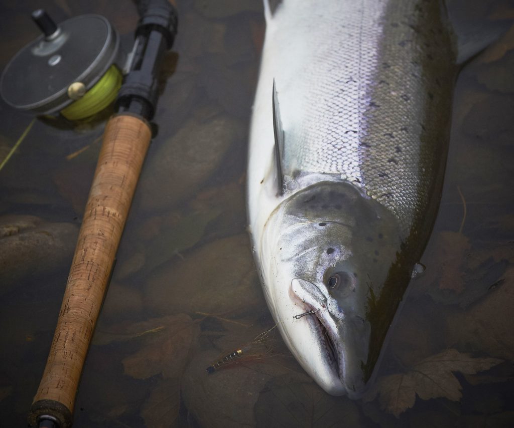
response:
[(395, 217), (327, 182), (293, 195), (267, 229), (265, 290), (285, 342), (325, 391), (358, 398), (381, 345), (374, 305), (399, 245)]

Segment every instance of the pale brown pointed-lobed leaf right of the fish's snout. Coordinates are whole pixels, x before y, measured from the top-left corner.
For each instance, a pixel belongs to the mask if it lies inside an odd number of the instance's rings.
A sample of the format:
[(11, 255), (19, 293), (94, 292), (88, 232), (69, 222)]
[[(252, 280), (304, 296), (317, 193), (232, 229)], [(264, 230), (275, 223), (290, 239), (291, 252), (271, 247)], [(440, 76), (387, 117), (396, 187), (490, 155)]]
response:
[(406, 373), (381, 377), (365, 395), (364, 401), (372, 401), (380, 394), (380, 405), (396, 417), (414, 406), (416, 395), (423, 399), (444, 397), (459, 401), (461, 384), (452, 372), (475, 374), (499, 364), (496, 358), (473, 358), (456, 349), (425, 358)]

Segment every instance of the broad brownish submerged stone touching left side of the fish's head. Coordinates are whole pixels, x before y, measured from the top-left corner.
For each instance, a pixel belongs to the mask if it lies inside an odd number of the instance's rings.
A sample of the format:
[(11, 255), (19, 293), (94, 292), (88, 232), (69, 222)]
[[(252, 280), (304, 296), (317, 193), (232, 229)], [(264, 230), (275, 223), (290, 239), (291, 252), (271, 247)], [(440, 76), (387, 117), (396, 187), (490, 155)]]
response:
[(183, 257), (149, 278), (145, 304), (154, 312), (247, 314), (265, 306), (246, 234), (216, 240)]

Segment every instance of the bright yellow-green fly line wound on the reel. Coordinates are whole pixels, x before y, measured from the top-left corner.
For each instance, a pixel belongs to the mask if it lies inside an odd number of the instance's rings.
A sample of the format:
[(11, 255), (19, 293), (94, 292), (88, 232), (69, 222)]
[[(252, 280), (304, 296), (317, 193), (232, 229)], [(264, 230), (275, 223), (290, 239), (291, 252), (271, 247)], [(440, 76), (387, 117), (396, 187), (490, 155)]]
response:
[(120, 71), (112, 65), (93, 88), (80, 100), (62, 109), (61, 114), (70, 121), (77, 121), (102, 111), (116, 99), (121, 81)]

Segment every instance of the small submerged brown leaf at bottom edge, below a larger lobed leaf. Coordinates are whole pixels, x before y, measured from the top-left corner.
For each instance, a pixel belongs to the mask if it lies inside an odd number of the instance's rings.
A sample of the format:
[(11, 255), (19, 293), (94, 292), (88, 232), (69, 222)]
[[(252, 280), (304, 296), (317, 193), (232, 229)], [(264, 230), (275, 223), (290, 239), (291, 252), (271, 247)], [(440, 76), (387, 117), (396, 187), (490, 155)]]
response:
[(180, 382), (177, 378), (160, 382), (141, 408), (146, 426), (169, 428), (178, 417)]

